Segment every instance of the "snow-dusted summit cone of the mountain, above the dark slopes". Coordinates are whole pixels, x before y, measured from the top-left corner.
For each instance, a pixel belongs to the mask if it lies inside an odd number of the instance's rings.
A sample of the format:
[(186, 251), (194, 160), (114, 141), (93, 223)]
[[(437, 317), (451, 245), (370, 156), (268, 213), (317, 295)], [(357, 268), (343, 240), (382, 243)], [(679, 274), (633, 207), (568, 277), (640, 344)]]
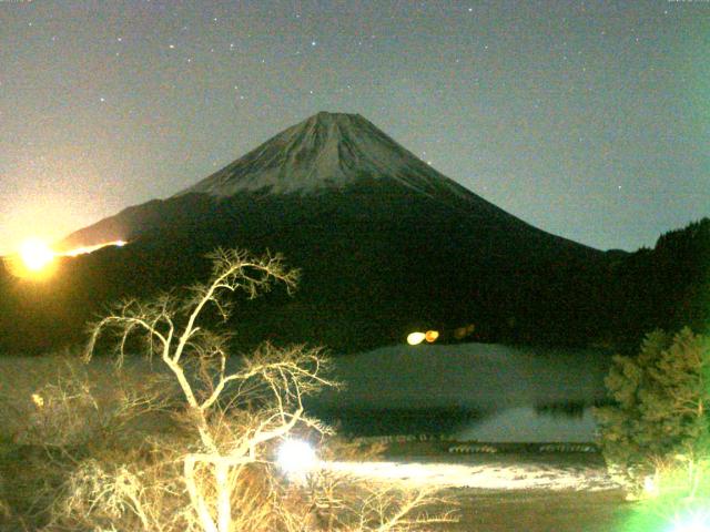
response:
[(359, 114), (320, 112), (176, 195), (310, 194), (362, 178), (394, 180), (425, 194), (469, 194)]

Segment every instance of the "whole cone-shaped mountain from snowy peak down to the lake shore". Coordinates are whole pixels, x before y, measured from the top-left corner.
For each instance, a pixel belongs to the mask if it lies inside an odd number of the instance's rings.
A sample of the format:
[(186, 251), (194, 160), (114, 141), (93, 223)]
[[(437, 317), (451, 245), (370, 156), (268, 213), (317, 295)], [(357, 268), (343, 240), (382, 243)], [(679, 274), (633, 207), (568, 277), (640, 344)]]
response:
[(193, 186), (59, 247), (119, 239), (129, 244), (68, 259), (62, 278), (41, 288), (49, 298), (41, 309), (10, 294), (32, 313), (32, 330), (52, 324), (51, 335), (16, 330), (11, 341), (75, 340), (78, 324), (108, 301), (204, 279), (204, 255), (217, 246), (281, 252), (302, 270), (295, 297), (240, 306), (231, 326), (246, 344), (352, 351), (418, 329), (453, 341), (463, 327), (477, 341), (588, 344), (608, 311), (608, 253), (506, 213), (355, 114), (311, 116)]

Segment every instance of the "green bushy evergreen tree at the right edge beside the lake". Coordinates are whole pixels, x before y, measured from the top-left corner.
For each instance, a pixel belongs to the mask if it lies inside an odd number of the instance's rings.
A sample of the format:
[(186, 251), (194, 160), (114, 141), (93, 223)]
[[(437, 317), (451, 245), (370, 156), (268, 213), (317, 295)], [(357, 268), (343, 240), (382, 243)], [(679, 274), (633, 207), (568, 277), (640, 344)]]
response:
[(657, 330), (636, 357), (616, 356), (605, 379), (611, 406), (597, 409), (610, 472), (631, 493), (659, 463), (709, 449), (710, 339)]

